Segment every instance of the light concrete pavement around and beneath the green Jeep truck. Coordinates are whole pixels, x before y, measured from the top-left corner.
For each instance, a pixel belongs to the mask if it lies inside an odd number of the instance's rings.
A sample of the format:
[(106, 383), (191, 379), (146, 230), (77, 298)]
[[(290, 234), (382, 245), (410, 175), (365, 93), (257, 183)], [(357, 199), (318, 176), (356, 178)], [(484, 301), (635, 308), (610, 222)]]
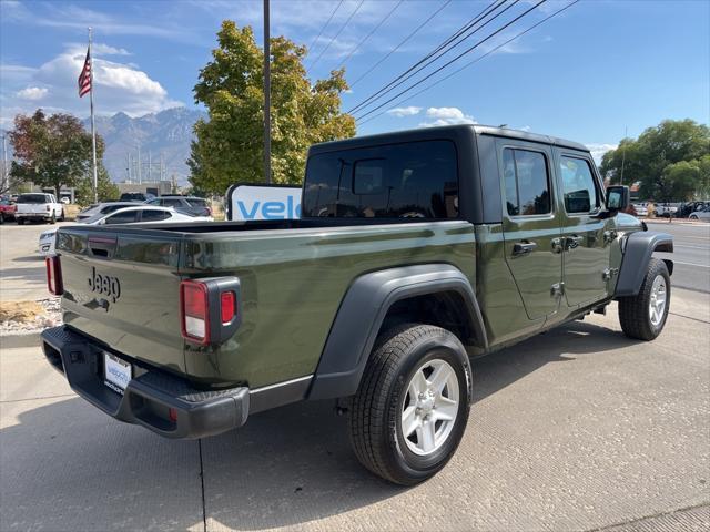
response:
[[(0, 227), (2, 300), (45, 297), (47, 227)], [(413, 489), (357, 463), (331, 402), (169, 441), (3, 347), (0, 530), (708, 530), (710, 226), (651, 229), (677, 238), (663, 334), (627, 339), (613, 304), (475, 361), (462, 446)]]

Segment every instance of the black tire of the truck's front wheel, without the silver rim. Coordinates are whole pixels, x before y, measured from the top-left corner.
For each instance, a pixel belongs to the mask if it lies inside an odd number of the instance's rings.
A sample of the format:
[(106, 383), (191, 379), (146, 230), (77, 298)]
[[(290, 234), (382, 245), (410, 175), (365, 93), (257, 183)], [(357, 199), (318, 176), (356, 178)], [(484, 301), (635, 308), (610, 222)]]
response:
[[(653, 283), (657, 277), (662, 277), (666, 284), (666, 305), (660, 321), (651, 320), (650, 304), (653, 291)], [(651, 258), (648, 263), (646, 276), (641, 283), (638, 295), (619, 298), (619, 321), (623, 334), (638, 340), (653, 340), (661, 334), (668, 310), (670, 308), (670, 275), (663, 260)]]

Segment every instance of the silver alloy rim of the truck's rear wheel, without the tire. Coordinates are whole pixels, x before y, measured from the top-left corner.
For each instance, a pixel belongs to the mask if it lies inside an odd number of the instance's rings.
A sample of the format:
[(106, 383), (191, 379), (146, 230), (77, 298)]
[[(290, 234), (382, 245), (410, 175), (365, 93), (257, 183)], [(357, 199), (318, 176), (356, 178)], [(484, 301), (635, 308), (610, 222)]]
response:
[(437, 358), (419, 366), (402, 403), (402, 433), (407, 448), (419, 456), (439, 449), (456, 423), (458, 401), (458, 378), (448, 362)]

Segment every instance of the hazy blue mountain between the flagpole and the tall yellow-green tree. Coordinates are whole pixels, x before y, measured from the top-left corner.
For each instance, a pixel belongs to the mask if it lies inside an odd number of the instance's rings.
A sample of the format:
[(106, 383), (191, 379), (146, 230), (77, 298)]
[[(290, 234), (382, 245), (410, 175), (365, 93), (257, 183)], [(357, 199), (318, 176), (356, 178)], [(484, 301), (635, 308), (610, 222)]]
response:
[[(194, 139), (192, 129), (199, 119), (204, 117), (206, 113), (203, 111), (186, 108), (168, 109), (138, 117), (122, 112), (113, 116), (95, 116), (97, 133), (105, 143), (103, 164), (111, 180), (120, 182), (129, 177), (129, 155), (131, 178), (138, 180), (140, 147), (143, 181), (158, 181), (162, 155), (163, 178), (172, 180), (174, 175), (179, 184), (185, 184), (190, 175), (186, 164), (190, 143)], [(89, 119), (84, 120), (84, 126), (90, 131)]]

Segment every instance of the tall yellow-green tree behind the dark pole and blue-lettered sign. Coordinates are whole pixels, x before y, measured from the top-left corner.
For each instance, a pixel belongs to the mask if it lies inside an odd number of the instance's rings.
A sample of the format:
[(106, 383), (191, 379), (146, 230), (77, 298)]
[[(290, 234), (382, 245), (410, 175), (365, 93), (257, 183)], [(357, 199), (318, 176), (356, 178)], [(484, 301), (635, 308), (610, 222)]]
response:
[[(217, 41), (194, 88), (209, 121), (195, 124), (189, 165), (195, 188), (223, 194), (234, 183), (263, 180), (263, 52), (250, 27), (229, 20)], [(311, 85), (303, 66), (306, 48), (283, 37), (271, 40), (271, 53), (272, 178), (301, 183), (311, 144), (355, 134), (355, 120), (341, 112), (347, 83), (338, 70)]]

